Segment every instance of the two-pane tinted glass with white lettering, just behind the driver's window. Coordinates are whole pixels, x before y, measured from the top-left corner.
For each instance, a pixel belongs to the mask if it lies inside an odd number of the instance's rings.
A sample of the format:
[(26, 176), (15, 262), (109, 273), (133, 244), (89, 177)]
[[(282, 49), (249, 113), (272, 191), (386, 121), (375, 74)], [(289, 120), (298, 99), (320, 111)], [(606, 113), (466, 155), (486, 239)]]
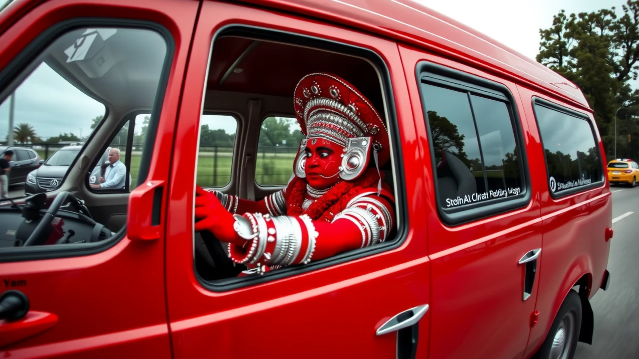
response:
[(463, 210), (521, 194), (520, 151), (505, 96), (422, 79), (436, 189), (443, 210)]

